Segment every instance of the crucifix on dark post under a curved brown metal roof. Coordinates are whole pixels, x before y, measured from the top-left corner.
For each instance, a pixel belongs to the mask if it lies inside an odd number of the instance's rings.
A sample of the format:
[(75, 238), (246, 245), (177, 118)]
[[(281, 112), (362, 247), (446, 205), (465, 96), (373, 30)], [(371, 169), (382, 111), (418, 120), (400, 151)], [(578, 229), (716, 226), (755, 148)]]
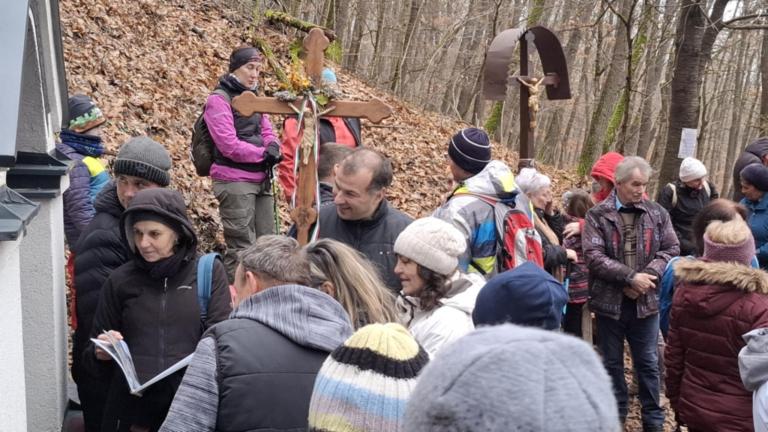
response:
[[(518, 170), (532, 167), (536, 157), (539, 95), (546, 89), (549, 100), (570, 99), (568, 65), (557, 36), (544, 27), (509, 29), (499, 33), (488, 48), (483, 77), (483, 96), (489, 100), (506, 99), (509, 66), (520, 42), (520, 73), (513, 76), (520, 84), (520, 161)], [(543, 76), (533, 74), (530, 55), (538, 52)]]

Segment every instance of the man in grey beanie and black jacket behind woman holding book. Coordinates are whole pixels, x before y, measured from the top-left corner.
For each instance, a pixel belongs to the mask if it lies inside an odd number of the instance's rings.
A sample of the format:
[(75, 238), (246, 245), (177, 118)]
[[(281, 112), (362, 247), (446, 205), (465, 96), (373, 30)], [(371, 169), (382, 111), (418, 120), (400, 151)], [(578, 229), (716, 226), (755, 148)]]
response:
[(165, 187), (170, 183), (171, 157), (148, 137), (131, 138), (120, 147), (115, 159), (115, 180), (96, 197), (96, 214), (83, 230), (75, 254), (75, 317), (72, 343), (72, 379), (83, 408), (86, 431), (101, 429), (106, 383), (97, 380), (82, 364), (89, 342), (101, 287), (113, 270), (129, 260), (127, 245), (120, 235), (120, 216), (140, 190)]

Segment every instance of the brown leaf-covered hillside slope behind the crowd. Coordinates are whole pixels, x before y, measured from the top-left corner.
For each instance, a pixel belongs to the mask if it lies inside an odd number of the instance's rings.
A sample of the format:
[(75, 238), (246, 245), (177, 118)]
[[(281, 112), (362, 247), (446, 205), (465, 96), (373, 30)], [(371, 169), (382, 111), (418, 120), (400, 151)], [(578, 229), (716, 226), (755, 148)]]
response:
[[(146, 134), (162, 143), (173, 158), (171, 187), (184, 195), (202, 247), (220, 250), (211, 181), (195, 174), (189, 143), (205, 98), (226, 72), (229, 53), (250, 39), (250, 14), (227, 8), (222, 0), (62, 0), (60, 9), (69, 93), (92, 96), (107, 116), (105, 159), (111, 165), (119, 146), (132, 136)], [(288, 47), (303, 35), (261, 23), (255, 29), (287, 69)], [(452, 186), (445, 163), (448, 140), (469, 125), (424, 111), (329, 66), (345, 99), (375, 97), (392, 106), (394, 114), (381, 124), (363, 121), (364, 145), (393, 161), (395, 181), (388, 199), (413, 217), (431, 213)], [(277, 81), (266, 72), (263, 85), (276, 89)], [(278, 118), (272, 121), (282, 126)], [(498, 145), (494, 158), (517, 165), (517, 154)], [(573, 172), (539, 168), (552, 178), (556, 197), (583, 182)], [(288, 204), (282, 194), (278, 197), (285, 225)], [(639, 431), (636, 400), (632, 406), (626, 430)], [(671, 420), (668, 424), (672, 431)]]

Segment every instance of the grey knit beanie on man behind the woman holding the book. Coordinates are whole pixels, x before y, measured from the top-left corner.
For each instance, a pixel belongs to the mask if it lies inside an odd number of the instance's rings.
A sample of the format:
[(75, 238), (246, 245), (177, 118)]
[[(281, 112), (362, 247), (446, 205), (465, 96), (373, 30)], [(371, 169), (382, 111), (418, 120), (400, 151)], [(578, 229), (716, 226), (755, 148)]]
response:
[(140, 177), (168, 186), (171, 183), (171, 156), (162, 144), (146, 136), (129, 139), (117, 152), (115, 174)]

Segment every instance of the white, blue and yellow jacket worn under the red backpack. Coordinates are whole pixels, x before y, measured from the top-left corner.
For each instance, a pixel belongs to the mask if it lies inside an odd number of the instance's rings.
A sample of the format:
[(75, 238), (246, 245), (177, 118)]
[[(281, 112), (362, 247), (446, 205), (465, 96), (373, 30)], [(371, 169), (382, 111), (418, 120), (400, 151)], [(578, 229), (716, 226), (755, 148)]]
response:
[(467, 249), (459, 257), (459, 269), (463, 273), (484, 273), (490, 278), (497, 270), (496, 218), (493, 207), (473, 195), (487, 196), (513, 206), (518, 191), (512, 170), (504, 162), (489, 162), (478, 174), (461, 182), (448, 201), (432, 215), (453, 224), (467, 239)]

